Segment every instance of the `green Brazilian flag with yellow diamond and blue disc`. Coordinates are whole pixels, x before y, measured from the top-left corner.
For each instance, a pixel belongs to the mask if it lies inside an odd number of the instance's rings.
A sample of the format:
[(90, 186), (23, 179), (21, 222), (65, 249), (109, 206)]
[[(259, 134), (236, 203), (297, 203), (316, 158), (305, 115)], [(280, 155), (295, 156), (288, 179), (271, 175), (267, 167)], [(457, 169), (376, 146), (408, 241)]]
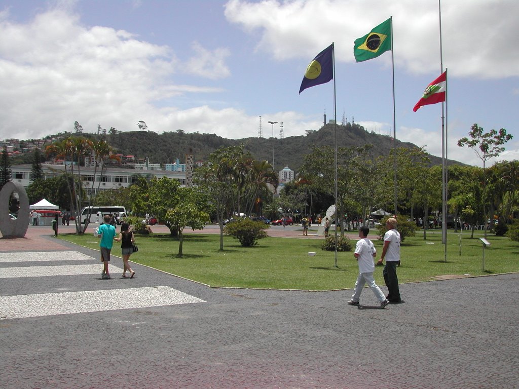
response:
[(377, 25), (369, 34), (356, 39), (353, 55), (357, 62), (371, 60), (391, 50), (391, 18)]

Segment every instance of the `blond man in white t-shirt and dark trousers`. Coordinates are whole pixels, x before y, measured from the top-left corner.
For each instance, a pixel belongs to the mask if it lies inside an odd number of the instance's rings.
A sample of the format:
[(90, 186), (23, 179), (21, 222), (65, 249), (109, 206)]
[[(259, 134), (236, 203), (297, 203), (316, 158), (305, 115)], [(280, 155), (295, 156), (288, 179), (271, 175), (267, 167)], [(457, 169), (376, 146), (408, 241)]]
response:
[(377, 265), (382, 265), (386, 258), (386, 265), (382, 271), (384, 281), (388, 287), (386, 298), (389, 302), (402, 302), (398, 286), (397, 266), (400, 263), (400, 232), (397, 231), (397, 219), (390, 217), (386, 221), (387, 232), (384, 234), (384, 247)]

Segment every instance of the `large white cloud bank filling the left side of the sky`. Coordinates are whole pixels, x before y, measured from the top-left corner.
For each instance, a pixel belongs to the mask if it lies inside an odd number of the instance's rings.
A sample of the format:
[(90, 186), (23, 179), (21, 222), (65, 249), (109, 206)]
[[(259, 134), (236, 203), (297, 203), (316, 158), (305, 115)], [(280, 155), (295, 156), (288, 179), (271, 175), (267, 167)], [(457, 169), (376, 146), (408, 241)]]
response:
[[(137, 40), (124, 30), (82, 26), (61, 9), (39, 13), (28, 24), (0, 20), (0, 138), (36, 138), (72, 131), (128, 128), (128, 123), (162, 115), (153, 103), (192, 92), (221, 88), (175, 85), (184, 72), (167, 46)], [(210, 78), (228, 75), (228, 52), (195, 46), (192, 72)], [(198, 65), (197, 65), (198, 64)], [(198, 66), (198, 67), (197, 67)], [(134, 119), (132, 119), (134, 118)]]

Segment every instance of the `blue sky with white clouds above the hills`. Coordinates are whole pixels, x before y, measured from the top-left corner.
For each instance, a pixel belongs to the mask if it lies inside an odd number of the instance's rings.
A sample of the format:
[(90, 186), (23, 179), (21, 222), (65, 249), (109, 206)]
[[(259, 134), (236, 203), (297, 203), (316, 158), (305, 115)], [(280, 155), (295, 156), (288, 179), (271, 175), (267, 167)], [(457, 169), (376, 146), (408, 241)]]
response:
[[(393, 52), (356, 63), (353, 41), (393, 18)], [(519, 2), (443, 0), (447, 157), (472, 124), (514, 135)], [(442, 155), (441, 104), (413, 112), (441, 73), (438, 0), (0, 0), (0, 140), (115, 127), (279, 138), (333, 119), (334, 82), (298, 94), (335, 43), (336, 117)], [(260, 119), (261, 117), (261, 119)], [(268, 121), (278, 121), (272, 128)], [(261, 126), (260, 126), (261, 123)], [(331, 145), (333, 140), (331, 140)], [(493, 161), (491, 161), (493, 162)]]

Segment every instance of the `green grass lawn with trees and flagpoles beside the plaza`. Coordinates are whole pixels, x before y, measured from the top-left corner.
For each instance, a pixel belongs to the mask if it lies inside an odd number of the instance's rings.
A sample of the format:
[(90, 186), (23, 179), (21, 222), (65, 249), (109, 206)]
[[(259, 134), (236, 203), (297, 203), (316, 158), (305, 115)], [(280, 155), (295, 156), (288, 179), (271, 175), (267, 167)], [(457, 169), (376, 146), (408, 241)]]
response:
[[(92, 234), (60, 234), (61, 239), (99, 249)], [(452, 276), (477, 276), (519, 271), (519, 244), (508, 238), (487, 235), (490, 246), (485, 249), (485, 270), (482, 269), (483, 237), (477, 231), (460, 235), (447, 233), (447, 262), (441, 231), (431, 231), (427, 240), (417, 236), (406, 238), (400, 252), (402, 265), (398, 268), (400, 283), (432, 281)], [(354, 243), (352, 245), (354, 248)], [(373, 241), (378, 256), (382, 244)], [(121, 256), (120, 244), (114, 242), (112, 253)], [(352, 288), (358, 275), (353, 252), (335, 253), (321, 250), (321, 240), (268, 237), (254, 247), (241, 247), (233, 238), (224, 237), (220, 252), (218, 234), (184, 234), (182, 258), (177, 257), (179, 241), (165, 234), (136, 235), (139, 252), (130, 260), (211, 286), (330, 290)], [(310, 257), (308, 252), (316, 252)], [(375, 281), (384, 285), (382, 268), (375, 268)]]

